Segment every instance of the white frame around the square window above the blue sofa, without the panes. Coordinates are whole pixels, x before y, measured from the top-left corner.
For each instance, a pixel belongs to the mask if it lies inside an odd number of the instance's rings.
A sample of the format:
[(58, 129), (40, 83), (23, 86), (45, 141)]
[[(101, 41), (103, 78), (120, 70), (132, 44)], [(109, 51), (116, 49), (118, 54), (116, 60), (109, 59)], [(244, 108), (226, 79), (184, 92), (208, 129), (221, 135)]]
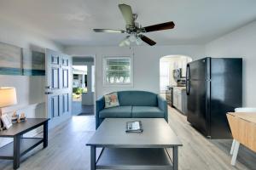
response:
[[(107, 82), (107, 59), (130, 59), (130, 81), (131, 82)], [(102, 57), (102, 82), (103, 87), (133, 87), (133, 57), (129, 55), (115, 55), (115, 56), (103, 56)]]

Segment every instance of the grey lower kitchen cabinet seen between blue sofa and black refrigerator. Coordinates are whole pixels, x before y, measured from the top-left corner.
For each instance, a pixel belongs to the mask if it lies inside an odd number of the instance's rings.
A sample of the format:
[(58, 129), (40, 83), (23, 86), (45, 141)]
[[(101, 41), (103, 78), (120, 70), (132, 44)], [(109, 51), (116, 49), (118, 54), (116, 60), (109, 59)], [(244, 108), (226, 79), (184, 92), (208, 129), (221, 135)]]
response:
[(185, 87), (172, 87), (172, 106), (186, 115), (187, 113), (187, 94)]

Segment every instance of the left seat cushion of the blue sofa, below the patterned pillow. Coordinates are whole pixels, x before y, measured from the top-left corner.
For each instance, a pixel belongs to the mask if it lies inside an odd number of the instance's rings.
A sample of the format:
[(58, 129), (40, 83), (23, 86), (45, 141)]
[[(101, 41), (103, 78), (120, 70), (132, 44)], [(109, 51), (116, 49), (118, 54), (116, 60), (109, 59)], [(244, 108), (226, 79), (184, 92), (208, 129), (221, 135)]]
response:
[(131, 117), (131, 106), (117, 106), (105, 108), (99, 112), (100, 118), (129, 118)]

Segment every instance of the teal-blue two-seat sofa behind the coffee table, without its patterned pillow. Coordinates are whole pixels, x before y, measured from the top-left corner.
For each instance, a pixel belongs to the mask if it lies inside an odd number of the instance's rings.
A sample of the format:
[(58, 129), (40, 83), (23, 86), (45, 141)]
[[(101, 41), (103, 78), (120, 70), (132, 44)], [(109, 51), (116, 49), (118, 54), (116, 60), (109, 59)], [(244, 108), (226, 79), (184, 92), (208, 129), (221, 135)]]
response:
[(166, 99), (145, 91), (117, 92), (119, 106), (105, 108), (105, 99), (96, 100), (96, 128), (105, 118), (165, 118), (168, 122)]

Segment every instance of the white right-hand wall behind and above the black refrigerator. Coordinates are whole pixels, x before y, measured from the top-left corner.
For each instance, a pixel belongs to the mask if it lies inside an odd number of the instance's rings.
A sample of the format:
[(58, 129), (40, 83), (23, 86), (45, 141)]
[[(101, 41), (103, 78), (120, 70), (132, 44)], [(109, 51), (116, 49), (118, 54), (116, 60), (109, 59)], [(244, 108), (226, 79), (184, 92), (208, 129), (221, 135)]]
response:
[(207, 43), (206, 54), (243, 58), (243, 106), (256, 107), (256, 21)]

